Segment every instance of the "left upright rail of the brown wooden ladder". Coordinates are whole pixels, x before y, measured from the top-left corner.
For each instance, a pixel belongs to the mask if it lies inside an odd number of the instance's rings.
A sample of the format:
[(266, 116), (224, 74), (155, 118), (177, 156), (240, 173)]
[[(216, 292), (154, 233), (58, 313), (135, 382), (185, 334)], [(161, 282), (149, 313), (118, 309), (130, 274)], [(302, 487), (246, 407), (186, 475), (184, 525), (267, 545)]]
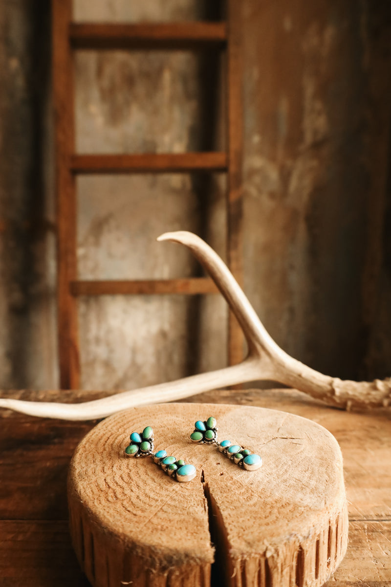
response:
[(57, 322), (60, 387), (79, 387), (76, 279), (76, 183), (70, 167), (74, 151), (73, 60), (69, 42), (72, 0), (52, 2), (53, 91), (55, 103), (57, 195)]

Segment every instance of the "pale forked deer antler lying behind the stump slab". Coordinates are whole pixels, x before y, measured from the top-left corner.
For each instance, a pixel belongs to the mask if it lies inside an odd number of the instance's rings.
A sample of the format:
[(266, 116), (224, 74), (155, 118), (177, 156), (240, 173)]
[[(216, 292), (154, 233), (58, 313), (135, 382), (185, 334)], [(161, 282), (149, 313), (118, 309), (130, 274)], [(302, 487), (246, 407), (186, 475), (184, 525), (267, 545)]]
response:
[(322, 375), (287, 355), (270, 337), (222, 259), (195, 234), (185, 231), (166, 232), (158, 241), (173, 241), (185, 245), (205, 267), (243, 329), (249, 345), (247, 358), (239, 365), (225, 369), (134, 389), (92, 402), (64, 404), (0, 399), (0, 407), (31, 416), (92, 420), (129, 407), (171, 402), (210, 389), (260, 379), (284, 383), (331, 406), (345, 409), (386, 407), (391, 403), (390, 378), (373, 382), (342, 381)]

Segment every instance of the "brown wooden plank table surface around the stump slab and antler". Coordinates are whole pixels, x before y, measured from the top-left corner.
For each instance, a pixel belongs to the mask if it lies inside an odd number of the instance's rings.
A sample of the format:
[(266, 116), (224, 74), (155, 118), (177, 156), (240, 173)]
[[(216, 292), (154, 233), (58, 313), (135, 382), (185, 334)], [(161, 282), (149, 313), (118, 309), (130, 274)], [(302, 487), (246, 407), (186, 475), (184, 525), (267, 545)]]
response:
[[(4, 397), (77, 401), (87, 392), (2, 392)], [(331, 431), (344, 455), (348, 552), (327, 587), (391, 587), (391, 409), (346, 413), (295, 390), (223, 390), (186, 401), (289, 411)], [(206, 417), (210, 414), (202, 414)], [(74, 448), (96, 422), (46, 420), (0, 411), (0, 586), (88, 586), (67, 527), (66, 477)], [(278, 587), (277, 585), (275, 587)]]

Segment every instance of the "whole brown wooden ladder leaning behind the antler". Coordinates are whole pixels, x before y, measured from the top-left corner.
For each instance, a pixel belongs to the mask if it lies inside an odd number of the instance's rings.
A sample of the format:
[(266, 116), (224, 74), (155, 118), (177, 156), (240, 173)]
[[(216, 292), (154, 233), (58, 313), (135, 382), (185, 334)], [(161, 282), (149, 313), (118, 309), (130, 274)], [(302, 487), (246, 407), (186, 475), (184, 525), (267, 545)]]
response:
[[(227, 174), (227, 262), (242, 282), (242, 82), (240, 2), (226, 0), (222, 22), (74, 23), (72, 0), (53, 0), (53, 87), (56, 141), (57, 297), (60, 387), (80, 385), (77, 297), (106, 294), (210, 294), (209, 278), (80, 281), (76, 262), (76, 176), (94, 173)], [(226, 51), (227, 148), (224, 152), (77, 154), (74, 141), (73, 52), (77, 49), (195, 49)], [(243, 335), (230, 313), (228, 362), (243, 358)]]

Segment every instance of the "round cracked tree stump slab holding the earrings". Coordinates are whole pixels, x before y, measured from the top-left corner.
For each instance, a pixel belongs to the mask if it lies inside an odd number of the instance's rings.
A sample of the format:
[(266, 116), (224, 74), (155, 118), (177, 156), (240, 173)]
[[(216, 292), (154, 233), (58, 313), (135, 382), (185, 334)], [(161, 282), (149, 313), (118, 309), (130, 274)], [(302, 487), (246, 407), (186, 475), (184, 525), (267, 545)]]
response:
[[(250, 448), (263, 466), (245, 471), (215, 446), (192, 443), (195, 421), (209, 416), (219, 440)], [(155, 451), (194, 464), (195, 479), (178, 483), (152, 458), (124, 456), (130, 433), (147, 425)], [(69, 511), (74, 549), (96, 587), (321, 586), (348, 541), (335, 438), (259, 407), (172, 403), (107, 418), (74, 454)]]

